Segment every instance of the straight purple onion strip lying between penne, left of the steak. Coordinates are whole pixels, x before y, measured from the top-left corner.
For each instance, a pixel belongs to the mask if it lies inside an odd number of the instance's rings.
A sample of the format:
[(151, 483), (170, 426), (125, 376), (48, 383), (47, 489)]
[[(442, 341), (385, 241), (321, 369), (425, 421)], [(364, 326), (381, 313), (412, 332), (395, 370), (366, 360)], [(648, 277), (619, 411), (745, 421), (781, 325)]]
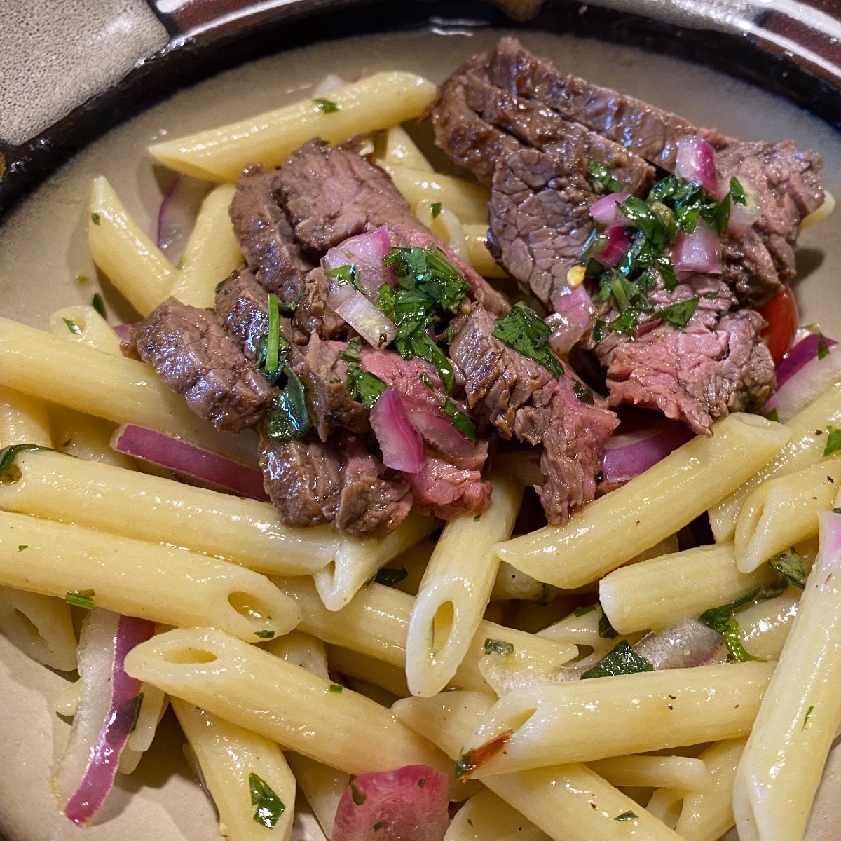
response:
[(114, 432), (111, 448), (177, 473), (179, 477), (213, 489), (231, 491), (252, 500), (268, 500), (262, 471), (215, 452), (144, 426), (124, 424)]

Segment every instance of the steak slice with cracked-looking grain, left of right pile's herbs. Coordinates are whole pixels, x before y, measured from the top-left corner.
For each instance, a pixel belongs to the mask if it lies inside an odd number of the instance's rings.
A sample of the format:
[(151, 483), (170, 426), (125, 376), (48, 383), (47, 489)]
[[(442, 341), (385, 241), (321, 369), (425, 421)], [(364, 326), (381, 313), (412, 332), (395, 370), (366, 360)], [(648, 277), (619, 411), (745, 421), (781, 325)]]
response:
[(563, 156), (522, 149), (497, 161), (494, 172), (489, 250), (550, 309), (593, 230), (595, 196), (582, 174), (582, 155), (577, 143)]

